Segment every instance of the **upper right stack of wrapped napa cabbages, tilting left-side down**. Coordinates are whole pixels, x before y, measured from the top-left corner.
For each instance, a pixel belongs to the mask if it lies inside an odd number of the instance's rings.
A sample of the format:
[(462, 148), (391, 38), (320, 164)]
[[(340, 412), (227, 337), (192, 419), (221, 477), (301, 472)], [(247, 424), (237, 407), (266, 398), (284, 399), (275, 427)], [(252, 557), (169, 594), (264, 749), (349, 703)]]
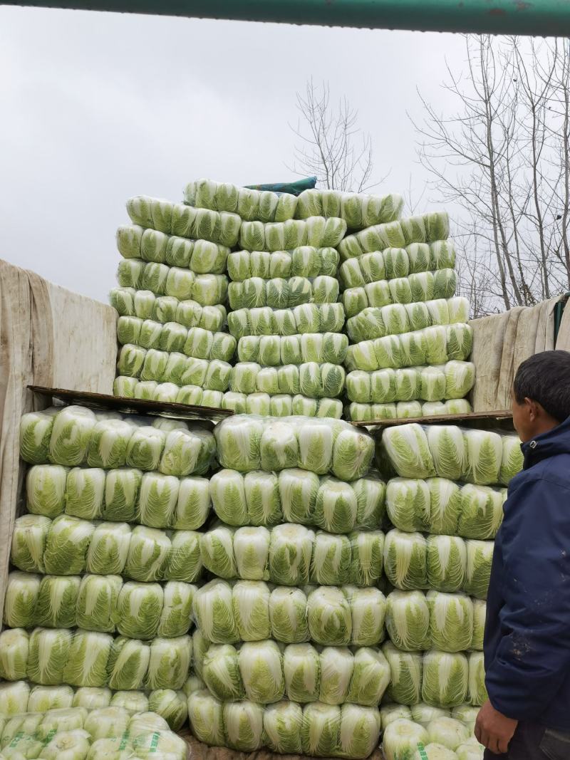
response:
[(447, 216), (426, 214), (371, 226), (340, 244), (350, 419), (470, 411), (469, 303), (454, 297), (447, 236)]

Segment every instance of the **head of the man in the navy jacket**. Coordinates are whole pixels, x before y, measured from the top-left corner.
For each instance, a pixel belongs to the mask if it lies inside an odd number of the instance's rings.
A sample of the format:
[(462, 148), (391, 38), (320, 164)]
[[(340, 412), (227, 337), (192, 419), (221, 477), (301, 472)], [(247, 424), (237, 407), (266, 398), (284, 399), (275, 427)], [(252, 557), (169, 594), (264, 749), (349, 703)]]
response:
[(512, 387), (512, 416), (523, 443), (570, 416), (568, 351), (535, 353), (521, 364)]

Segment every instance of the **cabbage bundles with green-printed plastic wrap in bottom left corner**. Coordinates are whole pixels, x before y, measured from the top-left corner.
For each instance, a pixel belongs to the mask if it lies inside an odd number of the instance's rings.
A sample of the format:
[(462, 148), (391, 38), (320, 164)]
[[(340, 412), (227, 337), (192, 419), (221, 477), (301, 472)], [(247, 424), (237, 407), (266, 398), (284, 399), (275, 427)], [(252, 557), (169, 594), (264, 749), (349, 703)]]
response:
[(0, 758), (100, 760), (159, 756), (186, 760), (188, 745), (154, 712), (81, 706), (23, 712), (2, 720)]

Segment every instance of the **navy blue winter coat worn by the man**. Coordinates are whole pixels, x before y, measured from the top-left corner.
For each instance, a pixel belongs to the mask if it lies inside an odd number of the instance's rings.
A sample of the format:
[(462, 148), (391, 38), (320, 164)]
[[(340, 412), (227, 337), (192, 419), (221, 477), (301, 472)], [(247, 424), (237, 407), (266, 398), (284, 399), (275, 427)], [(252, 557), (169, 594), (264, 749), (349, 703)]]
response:
[(522, 450), (492, 559), (486, 686), (502, 714), (570, 730), (570, 417)]

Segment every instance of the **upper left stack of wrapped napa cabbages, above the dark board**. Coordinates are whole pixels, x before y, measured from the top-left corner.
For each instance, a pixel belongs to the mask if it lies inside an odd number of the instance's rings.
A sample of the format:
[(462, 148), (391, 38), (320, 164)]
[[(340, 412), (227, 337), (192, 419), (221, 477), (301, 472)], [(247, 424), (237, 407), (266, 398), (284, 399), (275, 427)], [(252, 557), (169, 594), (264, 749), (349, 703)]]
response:
[(226, 329), (226, 271), (241, 219), (143, 196), (127, 211), (110, 294), (122, 346), (115, 393), (220, 407), (237, 345)]

